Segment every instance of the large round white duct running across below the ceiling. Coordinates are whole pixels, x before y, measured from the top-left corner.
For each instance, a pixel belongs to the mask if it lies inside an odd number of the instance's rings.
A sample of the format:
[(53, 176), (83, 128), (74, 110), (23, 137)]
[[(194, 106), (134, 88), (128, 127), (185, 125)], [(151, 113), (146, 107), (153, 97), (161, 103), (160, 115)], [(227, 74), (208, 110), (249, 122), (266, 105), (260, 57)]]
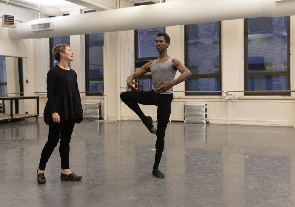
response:
[[(295, 15), (295, 0), (182, 0), (32, 20), (9, 28), (12, 39), (47, 38), (252, 17)], [(53, 30), (31, 25), (53, 22)]]

